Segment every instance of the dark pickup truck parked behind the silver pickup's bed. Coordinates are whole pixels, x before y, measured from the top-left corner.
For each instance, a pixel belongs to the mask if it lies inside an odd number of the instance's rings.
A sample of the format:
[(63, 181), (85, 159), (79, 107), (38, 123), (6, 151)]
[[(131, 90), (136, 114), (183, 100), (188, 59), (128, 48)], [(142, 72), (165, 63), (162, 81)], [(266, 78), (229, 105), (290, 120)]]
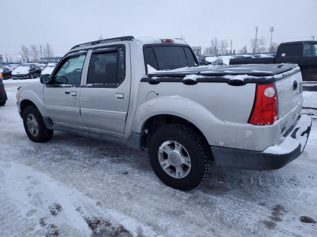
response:
[(234, 58), (230, 65), (296, 63), (301, 68), (303, 80), (317, 81), (317, 41), (281, 43), (275, 58)]

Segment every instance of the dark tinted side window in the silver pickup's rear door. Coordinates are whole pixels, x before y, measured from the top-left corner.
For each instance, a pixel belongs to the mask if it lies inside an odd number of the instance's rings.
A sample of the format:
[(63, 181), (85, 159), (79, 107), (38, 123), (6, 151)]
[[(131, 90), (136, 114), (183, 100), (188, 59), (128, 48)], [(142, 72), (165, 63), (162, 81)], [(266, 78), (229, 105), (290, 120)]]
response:
[(117, 87), (125, 78), (124, 52), (101, 51), (91, 55), (87, 86)]

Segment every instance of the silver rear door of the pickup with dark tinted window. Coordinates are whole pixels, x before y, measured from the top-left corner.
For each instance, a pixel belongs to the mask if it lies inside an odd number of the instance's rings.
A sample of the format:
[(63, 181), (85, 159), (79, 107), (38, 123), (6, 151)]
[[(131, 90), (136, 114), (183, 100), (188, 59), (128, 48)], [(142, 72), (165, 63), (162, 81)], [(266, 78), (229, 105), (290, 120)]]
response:
[(90, 131), (124, 136), (131, 85), (129, 52), (127, 42), (89, 51), (80, 110)]

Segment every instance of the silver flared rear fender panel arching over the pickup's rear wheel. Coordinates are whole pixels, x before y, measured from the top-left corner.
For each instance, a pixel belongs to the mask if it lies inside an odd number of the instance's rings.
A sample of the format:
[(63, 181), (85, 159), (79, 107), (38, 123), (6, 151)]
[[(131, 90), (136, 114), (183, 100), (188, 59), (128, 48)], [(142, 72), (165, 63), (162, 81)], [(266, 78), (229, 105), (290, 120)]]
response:
[(255, 126), (221, 121), (202, 105), (180, 96), (159, 97), (153, 106), (149, 106), (147, 102), (141, 104), (136, 112), (133, 131), (141, 133), (149, 118), (162, 114), (190, 121), (200, 129), (212, 146), (264, 151), (275, 145), (278, 138), (278, 124)]

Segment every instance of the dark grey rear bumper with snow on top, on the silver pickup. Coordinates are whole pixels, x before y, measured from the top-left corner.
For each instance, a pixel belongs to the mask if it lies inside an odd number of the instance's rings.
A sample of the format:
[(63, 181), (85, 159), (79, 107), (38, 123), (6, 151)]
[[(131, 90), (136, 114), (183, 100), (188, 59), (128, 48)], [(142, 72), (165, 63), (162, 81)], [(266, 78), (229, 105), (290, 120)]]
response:
[(311, 127), (312, 119), (302, 115), (279, 144), (268, 147), (263, 152), (211, 146), (212, 156), (217, 165), (224, 167), (250, 170), (279, 169), (302, 154)]

